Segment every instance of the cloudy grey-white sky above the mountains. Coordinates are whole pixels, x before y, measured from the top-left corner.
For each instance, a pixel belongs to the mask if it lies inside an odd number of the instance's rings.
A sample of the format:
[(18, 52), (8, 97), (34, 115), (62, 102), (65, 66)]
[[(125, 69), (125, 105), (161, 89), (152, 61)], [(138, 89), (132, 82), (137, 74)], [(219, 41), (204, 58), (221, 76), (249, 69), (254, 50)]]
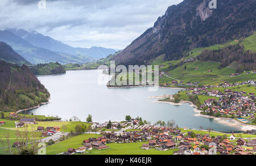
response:
[(1, 0), (0, 29), (33, 29), (65, 44), (124, 49), (182, 0)]

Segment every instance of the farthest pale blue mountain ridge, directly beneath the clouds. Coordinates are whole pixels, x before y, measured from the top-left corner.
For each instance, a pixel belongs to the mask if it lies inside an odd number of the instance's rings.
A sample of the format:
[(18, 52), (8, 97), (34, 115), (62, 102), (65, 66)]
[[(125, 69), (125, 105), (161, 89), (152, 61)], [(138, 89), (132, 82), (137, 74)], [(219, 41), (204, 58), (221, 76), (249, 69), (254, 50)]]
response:
[(107, 49), (93, 46), (92, 48), (73, 48), (63, 42), (52, 39), (49, 36), (44, 36), (36, 31), (25, 31), (24, 29), (6, 29), (22, 39), (30, 42), (34, 46), (52, 50), (53, 52), (66, 53), (71, 55), (83, 55), (92, 58), (105, 58), (109, 54), (116, 52), (114, 49)]

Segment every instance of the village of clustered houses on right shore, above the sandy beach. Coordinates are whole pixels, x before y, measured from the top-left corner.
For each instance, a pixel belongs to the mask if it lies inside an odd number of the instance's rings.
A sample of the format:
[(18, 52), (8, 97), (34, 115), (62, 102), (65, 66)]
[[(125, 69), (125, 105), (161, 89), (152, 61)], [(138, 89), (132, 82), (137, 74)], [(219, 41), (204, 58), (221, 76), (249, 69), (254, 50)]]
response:
[[(253, 81), (243, 82), (239, 85), (254, 84)], [(255, 121), (255, 94), (253, 92), (232, 91), (228, 87), (237, 86), (238, 84), (224, 83), (220, 85), (227, 88), (224, 91), (209, 89), (208, 87), (188, 88), (188, 95), (205, 95), (217, 97), (205, 100), (201, 103), (200, 109), (210, 116), (237, 118), (244, 124), (250, 124)]]

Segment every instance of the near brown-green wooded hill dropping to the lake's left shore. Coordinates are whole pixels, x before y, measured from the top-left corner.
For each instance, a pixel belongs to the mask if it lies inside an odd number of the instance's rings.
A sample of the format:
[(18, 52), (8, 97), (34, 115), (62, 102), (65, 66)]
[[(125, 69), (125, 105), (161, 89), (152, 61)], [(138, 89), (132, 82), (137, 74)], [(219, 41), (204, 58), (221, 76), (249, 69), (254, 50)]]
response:
[(49, 92), (26, 65), (0, 61), (0, 110), (16, 111), (47, 102)]

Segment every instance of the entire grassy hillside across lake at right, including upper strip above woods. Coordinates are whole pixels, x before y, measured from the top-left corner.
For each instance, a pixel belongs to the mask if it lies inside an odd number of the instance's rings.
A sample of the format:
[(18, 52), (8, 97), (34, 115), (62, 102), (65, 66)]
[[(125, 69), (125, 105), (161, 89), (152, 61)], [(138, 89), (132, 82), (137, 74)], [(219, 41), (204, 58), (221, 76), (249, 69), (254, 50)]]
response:
[[(256, 35), (247, 37), (245, 39), (239, 39), (238, 41), (230, 41), (222, 45), (213, 45), (205, 48), (196, 48), (191, 50), (183, 57), (183, 62), (185, 59), (194, 59), (196, 56), (199, 56), (203, 50), (217, 50), (224, 48), (228, 45), (236, 45), (242, 44), (245, 46), (245, 50), (251, 50), (252, 52), (256, 52)], [(234, 61), (229, 65), (229, 67), (224, 67), (220, 69), (220, 62), (214, 61), (193, 61), (187, 62), (181, 65), (181, 60), (179, 61), (168, 61), (164, 62), (164, 55), (154, 59), (152, 61), (153, 65), (159, 65), (159, 70), (167, 72), (170, 74), (172, 78), (183, 80), (185, 83), (187, 82), (199, 82), (200, 84), (218, 84), (228, 81), (230, 83), (234, 82), (242, 82), (249, 79), (256, 79), (256, 74), (250, 72), (250, 74), (246, 74), (247, 72), (243, 72), (241, 75), (230, 77), (231, 73), (236, 73), (236, 69), (238, 63)], [(180, 65), (179, 65), (180, 64)], [(185, 69), (185, 66), (187, 69)], [(208, 70), (212, 70), (208, 72)], [(170, 83), (174, 79), (167, 78), (163, 76), (160, 78), (160, 84)]]

